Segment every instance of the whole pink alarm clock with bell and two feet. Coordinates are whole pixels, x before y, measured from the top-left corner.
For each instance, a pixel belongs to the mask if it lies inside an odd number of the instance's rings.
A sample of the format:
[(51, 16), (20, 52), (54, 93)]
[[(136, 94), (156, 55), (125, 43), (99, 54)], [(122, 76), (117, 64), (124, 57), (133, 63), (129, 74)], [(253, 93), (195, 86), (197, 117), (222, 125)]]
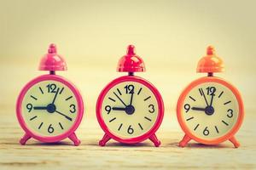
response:
[(48, 54), (41, 59), (40, 71), (49, 74), (34, 78), (21, 90), (16, 104), (16, 114), (28, 139), (54, 143), (69, 138), (74, 145), (80, 140), (74, 133), (84, 114), (84, 104), (78, 88), (55, 71), (66, 71), (67, 64), (57, 54), (55, 44), (49, 45)]

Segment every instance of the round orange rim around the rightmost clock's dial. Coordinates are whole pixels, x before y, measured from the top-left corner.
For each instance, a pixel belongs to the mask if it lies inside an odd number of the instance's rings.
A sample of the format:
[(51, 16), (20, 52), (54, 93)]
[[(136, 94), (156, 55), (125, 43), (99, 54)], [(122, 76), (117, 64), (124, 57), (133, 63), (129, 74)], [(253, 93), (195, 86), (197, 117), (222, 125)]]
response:
[[(221, 85), (223, 85), (226, 88), (229, 88), (230, 91), (236, 96), (236, 100), (239, 106), (239, 114), (237, 117), (237, 122), (234, 127), (230, 130), (229, 133), (224, 134), (221, 137), (215, 138), (215, 139), (201, 139), (199, 137), (196, 137), (193, 133), (190, 133), (189, 127), (186, 126), (185, 120), (182, 116), (182, 109), (183, 109), (183, 102), (186, 96), (189, 94), (189, 92), (195, 88), (197, 85), (200, 85), (205, 82), (217, 82)], [(241, 123), (243, 122), (244, 118), (244, 105), (241, 99), (240, 92), (230, 83), (225, 81), (222, 78), (219, 77), (201, 77), (199, 79), (196, 79), (194, 82), (191, 82), (182, 92), (182, 94), (179, 96), (179, 99), (177, 100), (177, 121), (179, 122), (180, 126), (183, 129), (183, 132), (189, 136), (190, 139), (194, 139), (195, 141), (201, 143), (201, 144), (219, 144), (224, 142), (225, 140), (228, 140), (232, 138), (235, 133), (239, 130), (241, 127)]]

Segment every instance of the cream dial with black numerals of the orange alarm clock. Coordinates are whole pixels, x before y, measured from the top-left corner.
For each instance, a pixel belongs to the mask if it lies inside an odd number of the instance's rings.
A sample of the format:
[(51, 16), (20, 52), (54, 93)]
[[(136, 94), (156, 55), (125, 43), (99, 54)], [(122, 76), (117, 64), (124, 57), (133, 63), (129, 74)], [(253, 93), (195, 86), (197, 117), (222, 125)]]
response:
[(236, 125), (239, 105), (230, 88), (218, 82), (195, 86), (182, 106), (183, 122), (200, 139), (218, 139)]

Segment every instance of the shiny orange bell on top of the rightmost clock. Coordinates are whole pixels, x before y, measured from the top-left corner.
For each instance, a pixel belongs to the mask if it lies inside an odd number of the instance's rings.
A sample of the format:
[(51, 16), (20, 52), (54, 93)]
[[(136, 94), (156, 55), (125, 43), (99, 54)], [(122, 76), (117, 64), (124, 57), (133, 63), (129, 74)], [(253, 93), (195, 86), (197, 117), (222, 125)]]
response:
[(215, 54), (212, 46), (207, 48), (207, 56), (199, 60), (196, 71), (208, 73), (224, 71), (224, 62)]

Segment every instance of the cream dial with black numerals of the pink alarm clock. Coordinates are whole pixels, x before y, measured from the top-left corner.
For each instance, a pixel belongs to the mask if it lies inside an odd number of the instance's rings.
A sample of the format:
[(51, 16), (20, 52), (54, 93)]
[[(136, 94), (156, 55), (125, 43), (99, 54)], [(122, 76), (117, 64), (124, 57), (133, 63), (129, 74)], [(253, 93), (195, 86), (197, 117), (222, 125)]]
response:
[(73, 91), (54, 80), (34, 84), (27, 90), (21, 104), (26, 127), (45, 137), (66, 133), (76, 122), (78, 112)]

